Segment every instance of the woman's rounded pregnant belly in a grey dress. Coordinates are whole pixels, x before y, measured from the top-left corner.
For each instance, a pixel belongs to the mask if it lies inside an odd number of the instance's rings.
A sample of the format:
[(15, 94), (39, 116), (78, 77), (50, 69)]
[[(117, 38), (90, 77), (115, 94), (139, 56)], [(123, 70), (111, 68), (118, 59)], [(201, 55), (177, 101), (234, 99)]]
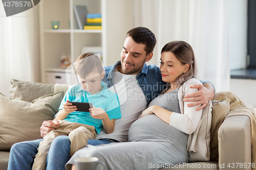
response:
[(167, 141), (187, 140), (187, 134), (167, 125), (155, 114), (143, 116), (136, 120), (129, 129), (129, 141)]

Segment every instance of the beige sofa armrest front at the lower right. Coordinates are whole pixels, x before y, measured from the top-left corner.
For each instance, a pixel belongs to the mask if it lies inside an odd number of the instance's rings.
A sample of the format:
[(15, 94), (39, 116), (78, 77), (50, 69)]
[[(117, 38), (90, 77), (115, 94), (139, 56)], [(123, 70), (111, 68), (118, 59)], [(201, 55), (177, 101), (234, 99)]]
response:
[(218, 134), (219, 169), (251, 169), (249, 117), (242, 115), (227, 117), (220, 126)]

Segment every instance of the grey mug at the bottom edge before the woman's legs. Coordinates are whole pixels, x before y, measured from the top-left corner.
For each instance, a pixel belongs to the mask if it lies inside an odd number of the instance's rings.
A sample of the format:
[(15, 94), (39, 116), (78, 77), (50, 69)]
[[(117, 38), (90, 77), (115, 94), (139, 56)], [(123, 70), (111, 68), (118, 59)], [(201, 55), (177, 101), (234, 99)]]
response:
[(75, 159), (75, 165), (77, 170), (95, 170), (98, 164), (102, 164), (104, 166), (104, 169), (106, 169), (105, 163), (99, 162), (99, 159), (97, 157)]

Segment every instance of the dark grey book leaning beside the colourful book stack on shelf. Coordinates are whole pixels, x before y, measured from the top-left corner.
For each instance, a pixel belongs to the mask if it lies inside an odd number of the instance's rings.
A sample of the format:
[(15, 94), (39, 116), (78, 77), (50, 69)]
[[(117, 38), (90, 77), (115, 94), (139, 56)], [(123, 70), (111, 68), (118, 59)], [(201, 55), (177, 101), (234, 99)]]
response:
[(78, 24), (78, 28), (80, 30), (82, 30), (83, 26), (86, 25), (87, 7), (86, 6), (75, 5), (74, 6), (74, 13), (75, 13), (75, 16), (76, 16), (76, 21), (77, 21), (77, 24)]

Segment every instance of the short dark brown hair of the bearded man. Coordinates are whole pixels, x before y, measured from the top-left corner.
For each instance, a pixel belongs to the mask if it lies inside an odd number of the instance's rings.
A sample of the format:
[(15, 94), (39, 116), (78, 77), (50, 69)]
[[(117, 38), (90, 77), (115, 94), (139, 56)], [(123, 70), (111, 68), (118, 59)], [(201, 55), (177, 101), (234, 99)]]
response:
[(146, 55), (153, 52), (156, 46), (157, 39), (152, 31), (145, 27), (136, 27), (127, 32), (126, 37), (132, 37), (134, 42), (138, 44), (145, 44)]

